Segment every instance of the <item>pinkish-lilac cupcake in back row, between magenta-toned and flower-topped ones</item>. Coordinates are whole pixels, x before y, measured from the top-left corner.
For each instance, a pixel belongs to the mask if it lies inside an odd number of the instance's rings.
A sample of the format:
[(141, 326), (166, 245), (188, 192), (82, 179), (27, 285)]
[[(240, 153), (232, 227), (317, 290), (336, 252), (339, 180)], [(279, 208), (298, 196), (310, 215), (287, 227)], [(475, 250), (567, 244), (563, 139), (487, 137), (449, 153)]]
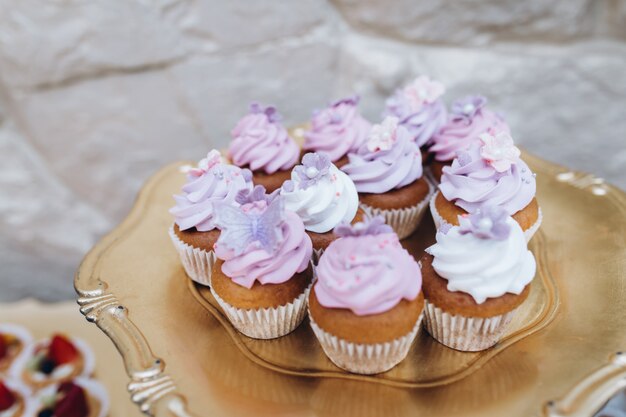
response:
[(348, 163), (348, 153), (365, 143), (372, 128), (359, 114), (358, 103), (358, 97), (345, 98), (316, 112), (304, 133), (304, 150), (327, 154), (337, 167)]

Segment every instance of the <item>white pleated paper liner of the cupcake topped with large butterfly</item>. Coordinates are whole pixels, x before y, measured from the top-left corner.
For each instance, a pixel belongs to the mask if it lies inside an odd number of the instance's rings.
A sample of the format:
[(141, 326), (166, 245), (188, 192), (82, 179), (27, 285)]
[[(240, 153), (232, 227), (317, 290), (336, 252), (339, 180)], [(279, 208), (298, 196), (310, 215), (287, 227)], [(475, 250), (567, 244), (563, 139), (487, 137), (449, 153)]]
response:
[(311, 286), (289, 304), (276, 308), (242, 309), (224, 301), (211, 288), (220, 307), (232, 325), (241, 333), (253, 339), (275, 339), (291, 333), (302, 323), (306, 315)]

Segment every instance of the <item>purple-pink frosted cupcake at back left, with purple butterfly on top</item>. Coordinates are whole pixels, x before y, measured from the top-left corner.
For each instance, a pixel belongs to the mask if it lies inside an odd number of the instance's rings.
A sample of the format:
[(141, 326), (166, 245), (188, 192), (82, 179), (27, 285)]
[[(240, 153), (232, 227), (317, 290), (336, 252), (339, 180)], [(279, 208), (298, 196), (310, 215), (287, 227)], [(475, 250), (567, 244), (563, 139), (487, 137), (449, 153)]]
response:
[(231, 134), (228, 156), (235, 165), (252, 170), (255, 184), (272, 192), (289, 179), (291, 168), (300, 158), (300, 149), (280, 124), (275, 108), (251, 104), (250, 113)]

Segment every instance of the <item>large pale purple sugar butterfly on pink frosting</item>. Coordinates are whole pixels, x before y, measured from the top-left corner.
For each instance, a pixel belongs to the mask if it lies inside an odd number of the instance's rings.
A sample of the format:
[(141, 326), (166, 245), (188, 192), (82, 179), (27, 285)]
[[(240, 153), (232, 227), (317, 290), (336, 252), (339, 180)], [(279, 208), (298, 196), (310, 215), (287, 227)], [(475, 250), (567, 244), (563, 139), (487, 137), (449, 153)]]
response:
[(251, 245), (273, 253), (282, 238), (284, 208), (280, 198), (274, 198), (268, 204), (266, 197), (241, 207), (220, 204), (217, 213), (217, 224), (221, 229), (219, 242), (237, 256)]

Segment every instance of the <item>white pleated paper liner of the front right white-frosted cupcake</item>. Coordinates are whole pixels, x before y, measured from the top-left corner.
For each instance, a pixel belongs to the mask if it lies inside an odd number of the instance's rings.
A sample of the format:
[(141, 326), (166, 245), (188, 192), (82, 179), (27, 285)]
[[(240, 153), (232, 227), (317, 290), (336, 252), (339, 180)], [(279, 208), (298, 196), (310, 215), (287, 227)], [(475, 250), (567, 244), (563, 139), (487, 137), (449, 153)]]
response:
[(498, 343), (517, 309), (489, 318), (454, 316), (426, 300), (426, 331), (439, 343), (464, 352), (485, 350)]

